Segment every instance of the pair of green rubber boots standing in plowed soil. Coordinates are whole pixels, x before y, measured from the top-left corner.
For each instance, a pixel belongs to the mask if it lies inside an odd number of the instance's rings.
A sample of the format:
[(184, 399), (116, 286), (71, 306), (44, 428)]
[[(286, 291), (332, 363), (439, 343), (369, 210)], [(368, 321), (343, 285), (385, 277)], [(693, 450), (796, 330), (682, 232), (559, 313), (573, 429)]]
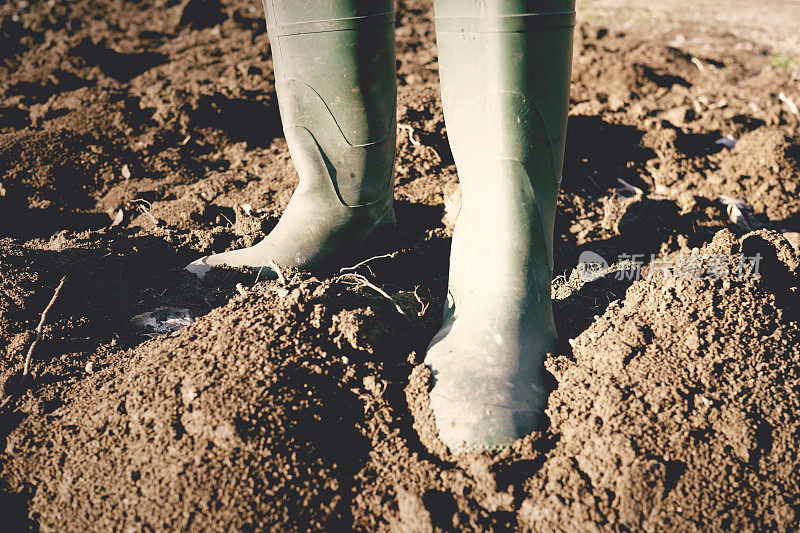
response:
[[(392, 0), (264, 0), (278, 103), (300, 183), (255, 246), (187, 266), (345, 265), (395, 223)], [(462, 204), (442, 329), (425, 361), (451, 451), (536, 429), (555, 342), (550, 283), (574, 0), (436, 0), (447, 133)]]

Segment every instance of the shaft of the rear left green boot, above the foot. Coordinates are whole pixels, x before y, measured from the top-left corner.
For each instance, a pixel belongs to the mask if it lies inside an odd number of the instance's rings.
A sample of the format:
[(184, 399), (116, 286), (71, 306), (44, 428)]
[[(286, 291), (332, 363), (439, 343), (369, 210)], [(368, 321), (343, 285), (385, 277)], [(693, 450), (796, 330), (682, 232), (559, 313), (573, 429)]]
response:
[(396, 137), (391, 0), (264, 0), (284, 133), (300, 188), (349, 207), (391, 194)]

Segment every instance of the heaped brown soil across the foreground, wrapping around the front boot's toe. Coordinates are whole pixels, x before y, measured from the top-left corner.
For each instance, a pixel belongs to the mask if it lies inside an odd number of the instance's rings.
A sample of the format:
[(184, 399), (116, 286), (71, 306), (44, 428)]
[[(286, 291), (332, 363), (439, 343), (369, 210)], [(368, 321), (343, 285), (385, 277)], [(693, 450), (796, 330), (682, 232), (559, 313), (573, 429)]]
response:
[(550, 427), (504, 454), (451, 457), (432, 438), (427, 370), (404, 378), (413, 295), (395, 295), (401, 314), (369, 287), (295, 277), (26, 420), (9, 481), (41, 525), (69, 530), (792, 529), (798, 256), (765, 231), (695, 251), (738, 254), (760, 254), (761, 275), (635, 282), (548, 360)]

